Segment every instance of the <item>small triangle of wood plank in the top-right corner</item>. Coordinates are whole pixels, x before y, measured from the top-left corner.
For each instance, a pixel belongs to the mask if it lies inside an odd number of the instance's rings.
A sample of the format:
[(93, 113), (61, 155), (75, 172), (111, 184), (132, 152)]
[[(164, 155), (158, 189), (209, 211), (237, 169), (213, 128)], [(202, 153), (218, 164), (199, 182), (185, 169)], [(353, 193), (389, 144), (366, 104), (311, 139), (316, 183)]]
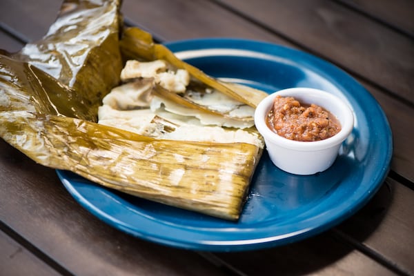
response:
[(339, 2), (414, 36), (414, 1), (412, 0), (339, 0)]

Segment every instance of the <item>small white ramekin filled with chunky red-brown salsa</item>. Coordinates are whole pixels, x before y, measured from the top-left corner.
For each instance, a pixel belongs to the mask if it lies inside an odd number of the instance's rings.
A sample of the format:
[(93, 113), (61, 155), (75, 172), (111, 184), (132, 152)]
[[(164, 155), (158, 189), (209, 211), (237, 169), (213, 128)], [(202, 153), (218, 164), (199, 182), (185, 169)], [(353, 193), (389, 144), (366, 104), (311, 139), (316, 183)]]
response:
[(347, 103), (314, 88), (279, 90), (255, 110), (255, 126), (273, 164), (295, 175), (313, 175), (332, 166), (353, 121)]

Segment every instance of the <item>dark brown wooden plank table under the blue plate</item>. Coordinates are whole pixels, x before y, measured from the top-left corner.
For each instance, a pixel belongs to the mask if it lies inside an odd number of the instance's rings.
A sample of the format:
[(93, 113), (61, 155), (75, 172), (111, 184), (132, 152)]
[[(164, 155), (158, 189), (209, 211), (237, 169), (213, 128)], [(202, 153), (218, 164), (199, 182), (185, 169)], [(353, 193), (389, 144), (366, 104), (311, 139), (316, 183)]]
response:
[[(0, 48), (45, 34), (61, 1), (1, 0)], [(350, 73), (393, 130), (391, 172), (362, 210), (302, 242), (206, 253), (146, 242), (83, 209), (55, 170), (0, 141), (0, 275), (414, 275), (414, 2), (125, 0), (158, 41), (241, 37), (309, 52)]]

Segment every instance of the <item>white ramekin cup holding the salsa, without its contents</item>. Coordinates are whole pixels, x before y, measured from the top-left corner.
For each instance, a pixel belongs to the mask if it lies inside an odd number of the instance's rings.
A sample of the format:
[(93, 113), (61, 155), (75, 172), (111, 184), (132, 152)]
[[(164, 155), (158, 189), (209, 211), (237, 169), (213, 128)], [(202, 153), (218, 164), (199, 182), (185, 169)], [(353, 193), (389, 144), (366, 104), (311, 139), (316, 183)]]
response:
[[(266, 125), (266, 115), (276, 95), (294, 97), (301, 103), (315, 103), (331, 112), (341, 124), (341, 130), (321, 141), (293, 141), (277, 135)], [(339, 147), (353, 130), (353, 112), (348, 105), (328, 92), (314, 88), (288, 88), (268, 95), (255, 110), (255, 125), (264, 137), (273, 164), (295, 175), (313, 175), (329, 168)]]

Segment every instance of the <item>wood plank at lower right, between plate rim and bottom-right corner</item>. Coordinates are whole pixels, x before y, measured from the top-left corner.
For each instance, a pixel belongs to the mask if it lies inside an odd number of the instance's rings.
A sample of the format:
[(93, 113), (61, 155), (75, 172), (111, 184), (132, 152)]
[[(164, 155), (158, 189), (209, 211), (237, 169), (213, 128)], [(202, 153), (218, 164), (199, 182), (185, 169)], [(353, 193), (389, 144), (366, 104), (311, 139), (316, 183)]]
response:
[[(339, 230), (414, 275), (414, 191), (388, 178), (377, 195)], [(396, 261), (397, 260), (397, 261)]]

